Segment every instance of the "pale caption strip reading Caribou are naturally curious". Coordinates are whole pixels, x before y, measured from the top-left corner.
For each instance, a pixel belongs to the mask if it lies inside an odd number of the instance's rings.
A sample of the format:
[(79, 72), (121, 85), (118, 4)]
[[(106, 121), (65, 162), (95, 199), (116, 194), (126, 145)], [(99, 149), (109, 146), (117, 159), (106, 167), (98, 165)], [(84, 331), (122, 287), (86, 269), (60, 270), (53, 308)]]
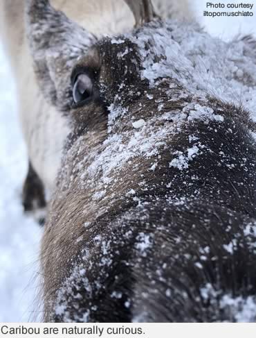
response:
[(255, 332), (256, 323), (0, 323), (0, 337), (7, 338), (255, 338)]

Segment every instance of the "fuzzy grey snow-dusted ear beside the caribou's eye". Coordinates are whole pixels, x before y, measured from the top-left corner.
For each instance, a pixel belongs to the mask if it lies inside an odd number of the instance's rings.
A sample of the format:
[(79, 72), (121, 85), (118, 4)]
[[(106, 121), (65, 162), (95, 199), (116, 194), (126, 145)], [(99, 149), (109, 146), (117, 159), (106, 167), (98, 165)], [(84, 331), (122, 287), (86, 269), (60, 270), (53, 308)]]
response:
[(67, 110), (72, 102), (71, 68), (95, 37), (48, 0), (26, 1), (26, 33), (40, 89), (51, 103)]

